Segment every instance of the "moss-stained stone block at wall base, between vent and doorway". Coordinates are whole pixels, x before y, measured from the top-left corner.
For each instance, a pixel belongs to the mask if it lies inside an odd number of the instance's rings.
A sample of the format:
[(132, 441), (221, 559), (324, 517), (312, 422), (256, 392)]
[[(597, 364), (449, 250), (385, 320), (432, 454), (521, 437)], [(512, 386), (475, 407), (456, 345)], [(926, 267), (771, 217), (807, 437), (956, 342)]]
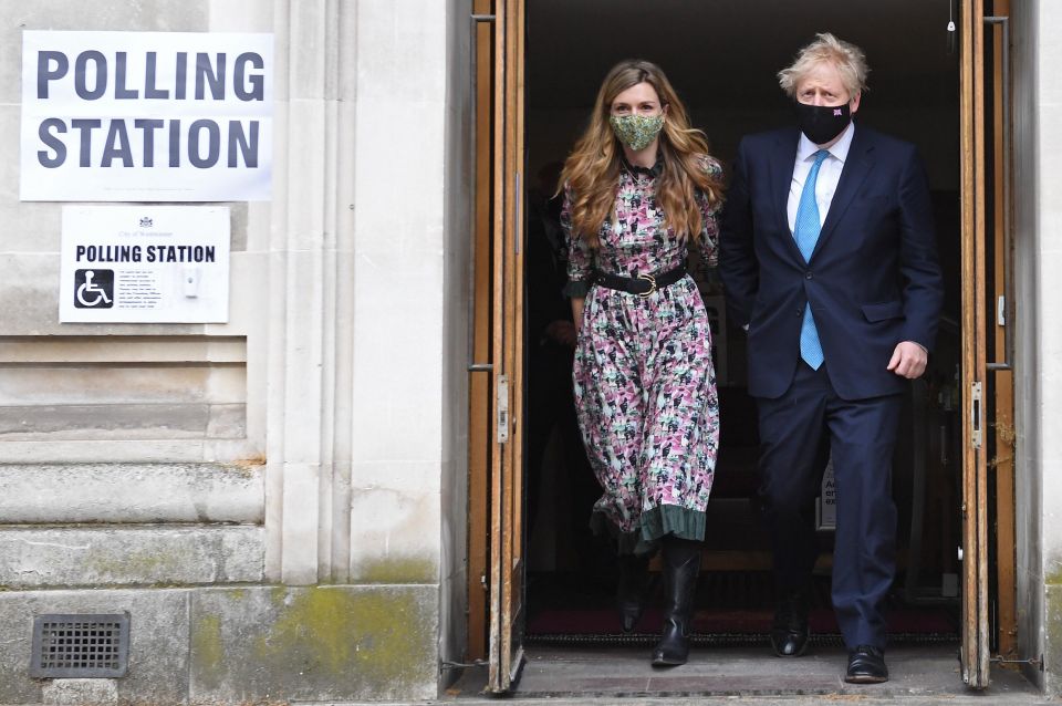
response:
[(437, 586), (270, 585), (196, 593), (197, 703), (436, 695)]

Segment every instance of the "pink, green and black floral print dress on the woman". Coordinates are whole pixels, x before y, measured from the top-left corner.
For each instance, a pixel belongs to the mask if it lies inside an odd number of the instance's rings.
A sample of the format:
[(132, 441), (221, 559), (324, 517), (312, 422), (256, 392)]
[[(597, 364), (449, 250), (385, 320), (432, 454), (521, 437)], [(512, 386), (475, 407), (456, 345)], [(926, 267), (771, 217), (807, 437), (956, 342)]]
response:
[[(718, 163), (702, 160), (706, 170)], [(575, 347), (575, 407), (586, 454), (604, 495), (591, 525), (623, 553), (649, 553), (657, 540), (702, 540), (719, 447), (719, 399), (708, 314), (690, 276), (647, 298), (590, 285), (594, 268), (637, 277), (686, 262), (687, 239), (666, 228), (656, 201), (663, 164), (624, 163), (615, 211), (591, 249), (572, 237), (571, 193), (561, 225), (568, 239), (565, 293), (585, 297)], [(714, 267), (716, 208), (697, 194), (700, 257)]]

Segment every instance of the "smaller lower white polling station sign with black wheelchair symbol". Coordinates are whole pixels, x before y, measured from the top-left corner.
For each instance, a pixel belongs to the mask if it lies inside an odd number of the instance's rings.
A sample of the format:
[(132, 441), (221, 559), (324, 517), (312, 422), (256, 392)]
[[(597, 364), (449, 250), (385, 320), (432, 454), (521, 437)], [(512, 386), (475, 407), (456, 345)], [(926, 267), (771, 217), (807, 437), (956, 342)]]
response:
[(223, 323), (228, 206), (64, 206), (61, 322)]

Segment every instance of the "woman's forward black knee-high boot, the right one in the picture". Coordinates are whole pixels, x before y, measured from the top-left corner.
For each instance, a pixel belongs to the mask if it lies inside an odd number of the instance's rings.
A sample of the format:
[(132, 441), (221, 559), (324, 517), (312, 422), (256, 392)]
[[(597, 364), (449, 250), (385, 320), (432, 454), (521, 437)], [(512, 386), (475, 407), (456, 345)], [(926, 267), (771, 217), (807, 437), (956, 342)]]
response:
[(700, 572), (700, 542), (664, 538), (664, 575), (667, 579), (667, 603), (664, 630), (653, 650), (653, 666), (686, 664), (689, 656), (689, 633), (694, 623), (694, 594)]

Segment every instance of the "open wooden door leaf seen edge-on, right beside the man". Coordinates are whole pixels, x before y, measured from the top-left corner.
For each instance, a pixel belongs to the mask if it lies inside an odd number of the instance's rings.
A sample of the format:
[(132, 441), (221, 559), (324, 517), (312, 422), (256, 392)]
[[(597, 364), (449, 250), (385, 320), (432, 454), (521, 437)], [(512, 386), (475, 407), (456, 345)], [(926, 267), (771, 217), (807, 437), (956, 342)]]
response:
[(986, 426), (985, 2), (961, 0), (959, 43), (962, 201), (962, 681), (989, 683)]

